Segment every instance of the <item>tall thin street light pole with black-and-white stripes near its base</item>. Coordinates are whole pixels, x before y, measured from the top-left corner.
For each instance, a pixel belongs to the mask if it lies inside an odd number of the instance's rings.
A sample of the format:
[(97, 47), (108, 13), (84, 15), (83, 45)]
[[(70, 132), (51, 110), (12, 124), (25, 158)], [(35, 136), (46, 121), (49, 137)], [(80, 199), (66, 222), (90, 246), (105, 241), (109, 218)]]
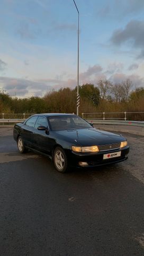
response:
[(78, 29), (77, 29), (77, 116), (78, 116), (78, 108), (79, 108), (79, 11), (77, 5), (75, 3), (76, 10), (78, 12)]

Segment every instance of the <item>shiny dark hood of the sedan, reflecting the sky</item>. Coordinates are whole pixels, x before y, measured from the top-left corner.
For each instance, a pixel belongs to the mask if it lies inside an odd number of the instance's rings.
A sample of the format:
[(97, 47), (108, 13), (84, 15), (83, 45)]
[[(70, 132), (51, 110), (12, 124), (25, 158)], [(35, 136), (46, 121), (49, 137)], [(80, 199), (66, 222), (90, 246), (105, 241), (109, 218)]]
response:
[(97, 130), (95, 128), (56, 131), (58, 137), (72, 144), (81, 146), (93, 146), (119, 143), (125, 140), (120, 135), (109, 133), (107, 131)]

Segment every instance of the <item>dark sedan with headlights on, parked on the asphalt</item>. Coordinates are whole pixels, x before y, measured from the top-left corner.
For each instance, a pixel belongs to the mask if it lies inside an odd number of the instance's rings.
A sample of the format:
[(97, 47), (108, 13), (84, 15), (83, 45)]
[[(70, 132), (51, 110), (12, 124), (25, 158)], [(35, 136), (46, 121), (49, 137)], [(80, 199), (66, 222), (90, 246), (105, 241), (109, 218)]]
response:
[(62, 173), (70, 166), (118, 163), (127, 160), (129, 153), (127, 139), (97, 130), (75, 114), (34, 114), (16, 123), (13, 136), (20, 153), (30, 149), (49, 156)]

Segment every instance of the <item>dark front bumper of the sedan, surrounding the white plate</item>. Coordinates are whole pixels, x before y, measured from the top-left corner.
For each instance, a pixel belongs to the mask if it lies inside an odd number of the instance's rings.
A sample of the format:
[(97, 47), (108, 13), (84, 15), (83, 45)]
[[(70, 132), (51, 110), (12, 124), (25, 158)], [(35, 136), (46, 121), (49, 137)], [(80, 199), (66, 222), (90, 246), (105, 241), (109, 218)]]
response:
[[(104, 154), (111, 154), (114, 152), (121, 151), (121, 156), (113, 157), (109, 159), (103, 160)], [(76, 152), (67, 152), (68, 162), (71, 166), (79, 166), (79, 162), (87, 162), (87, 166), (83, 167), (94, 167), (94, 166), (101, 166), (113, 163), (119, 163), (122, 161), (127, 160), (129, 154), (129, 146), (120, 148), (120, 149), (113, 149), (111, 151), (103, 151), (97, 153), (76, 153)]]

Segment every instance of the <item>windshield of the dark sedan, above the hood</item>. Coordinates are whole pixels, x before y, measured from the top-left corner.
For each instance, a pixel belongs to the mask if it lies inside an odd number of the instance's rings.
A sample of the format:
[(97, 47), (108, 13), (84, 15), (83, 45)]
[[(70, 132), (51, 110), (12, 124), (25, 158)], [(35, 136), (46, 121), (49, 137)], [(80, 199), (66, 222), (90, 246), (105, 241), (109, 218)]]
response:
[(48, 120), (52, 131), (92, 128), (88, 122), (77, 116), (55, 116)]

